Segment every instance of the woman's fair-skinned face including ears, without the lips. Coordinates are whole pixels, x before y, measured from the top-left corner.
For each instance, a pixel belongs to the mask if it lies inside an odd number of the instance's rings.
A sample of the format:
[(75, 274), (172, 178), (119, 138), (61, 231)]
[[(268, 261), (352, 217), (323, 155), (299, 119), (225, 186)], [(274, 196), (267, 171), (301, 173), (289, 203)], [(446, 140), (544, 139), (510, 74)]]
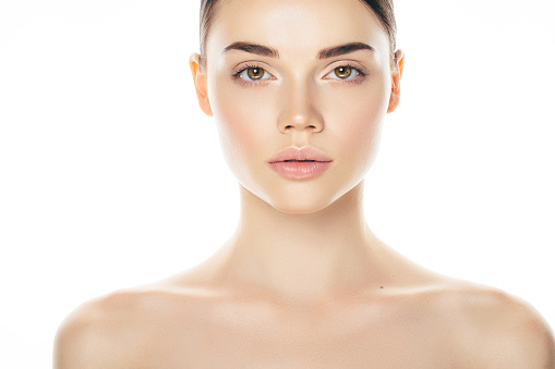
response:
[[(359, 0), (220, 0), (217, 14), (206, 67), (197, 56), (191, 65), (228, 164), (279, 211), (327, 207), (361, 183), (397, 104), (386, 32)], [(288, 147), (333, 161), (316, 176), (287, 177), (269, 162)]]

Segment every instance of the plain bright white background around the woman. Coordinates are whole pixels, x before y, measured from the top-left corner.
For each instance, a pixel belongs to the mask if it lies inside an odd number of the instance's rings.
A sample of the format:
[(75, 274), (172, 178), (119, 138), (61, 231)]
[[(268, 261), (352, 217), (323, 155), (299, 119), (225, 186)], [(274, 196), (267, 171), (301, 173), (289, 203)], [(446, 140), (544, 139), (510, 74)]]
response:
[[(374, 232), (555, 324), (551, 1), (397, 0), (399, 109)], [(188, 67), (195, 0), (0, 3), (0, 367), (48, 368), (75, 306), (177, 273), (233, 231), (238, 185)]]

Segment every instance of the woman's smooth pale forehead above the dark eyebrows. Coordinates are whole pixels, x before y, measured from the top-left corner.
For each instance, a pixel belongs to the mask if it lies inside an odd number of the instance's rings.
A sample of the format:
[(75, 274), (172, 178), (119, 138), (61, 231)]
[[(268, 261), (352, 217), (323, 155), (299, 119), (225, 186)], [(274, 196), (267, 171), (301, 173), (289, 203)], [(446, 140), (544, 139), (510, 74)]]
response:
[(236, 41), (267, 45), (280, 54), (353, 41), (370, 44), (386, 56), (389, 50), (379, 20), (360, 0), (220, 0), (208, 53)]

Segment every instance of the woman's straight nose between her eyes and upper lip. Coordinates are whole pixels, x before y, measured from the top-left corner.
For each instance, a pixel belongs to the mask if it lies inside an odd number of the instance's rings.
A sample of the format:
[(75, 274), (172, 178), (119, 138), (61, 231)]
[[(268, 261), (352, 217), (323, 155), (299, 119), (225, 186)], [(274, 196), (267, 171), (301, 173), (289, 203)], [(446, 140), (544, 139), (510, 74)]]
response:
[(278, 118), (278, 130), (312, 130), (313, 133), (324, 130), (324, 118), (317, 109), (314, 87), (310, 83), (292, 84), (283, 90), (283, 103)]

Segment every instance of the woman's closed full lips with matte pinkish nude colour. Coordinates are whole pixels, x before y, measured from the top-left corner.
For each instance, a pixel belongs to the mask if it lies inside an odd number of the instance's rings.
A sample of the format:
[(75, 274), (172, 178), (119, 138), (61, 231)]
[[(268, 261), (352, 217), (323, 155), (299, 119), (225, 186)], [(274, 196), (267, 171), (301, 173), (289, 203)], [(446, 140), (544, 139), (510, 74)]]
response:
[(324, 173), (333, 160), (321, 151), (303, 147), (288, 147), (280, 151), (268, 163), (281, 176), (291, 180), (310, 180)]

